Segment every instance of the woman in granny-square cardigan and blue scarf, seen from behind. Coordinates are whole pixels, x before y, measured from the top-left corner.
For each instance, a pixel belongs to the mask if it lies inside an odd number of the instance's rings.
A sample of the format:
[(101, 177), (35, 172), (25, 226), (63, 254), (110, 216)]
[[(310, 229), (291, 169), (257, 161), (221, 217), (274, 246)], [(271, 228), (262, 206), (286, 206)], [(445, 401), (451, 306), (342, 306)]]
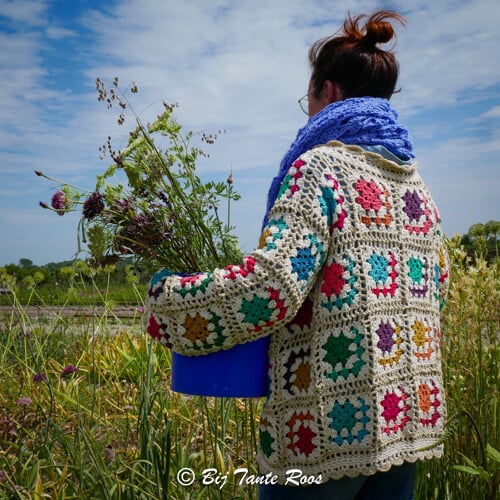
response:
[(310, 118), (241, 272), (161, 273), (149, 290), (154, 335), (182, 354), (271, 335), (257, 461), (278, 484), (262, 499), (412, 498), (415, 462), (442, 453), (447, 257), (388, 101), (398, 65), (379, 44), (404, 19), (364, 19), (310, 49)]

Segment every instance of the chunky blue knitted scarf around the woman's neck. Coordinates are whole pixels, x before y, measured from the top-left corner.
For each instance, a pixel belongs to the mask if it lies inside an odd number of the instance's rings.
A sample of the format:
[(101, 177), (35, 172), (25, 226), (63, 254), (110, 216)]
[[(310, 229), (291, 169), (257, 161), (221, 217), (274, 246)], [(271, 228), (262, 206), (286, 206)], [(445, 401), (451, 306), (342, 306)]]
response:
[(292, 163), (314, 146), (332, 140), (344, 144), (381, 145), (402, 160), (415, 157), (408, 130), (398, 124), (398, 115), (388, 100), (357, 97), (334, 102), (309, 118), (281, 160), (278, 174), (269, 188), (263, 228)]

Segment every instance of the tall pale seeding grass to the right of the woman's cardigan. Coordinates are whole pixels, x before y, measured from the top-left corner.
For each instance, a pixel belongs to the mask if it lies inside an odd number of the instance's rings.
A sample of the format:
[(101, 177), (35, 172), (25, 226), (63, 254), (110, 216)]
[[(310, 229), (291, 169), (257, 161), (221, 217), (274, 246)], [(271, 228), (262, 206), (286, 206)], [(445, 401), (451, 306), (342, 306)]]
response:
[(416, 497), (495, 499), (500, 486), (500, 261), (469, 259), (449, 245), (451, 282), (442, 318), (448, 404), (441, 460), (419, 464)]

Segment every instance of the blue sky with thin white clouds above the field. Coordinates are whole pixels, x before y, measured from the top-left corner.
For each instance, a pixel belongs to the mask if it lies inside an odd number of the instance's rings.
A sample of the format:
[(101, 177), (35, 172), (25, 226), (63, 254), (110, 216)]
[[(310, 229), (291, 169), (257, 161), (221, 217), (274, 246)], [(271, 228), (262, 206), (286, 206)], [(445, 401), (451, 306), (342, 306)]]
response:
[[(404, 4), (404, 7), (400, 7)], [(445, 233), (500, 219), (498, 0), (0, 0), (0, 266), (77, 252), (77, 213), (43, 210), (56, 186), (92, 190), (133, 121), (97, 101), (96, 78), (119, 78), (148, 120), (178, 103), (184, 130), (225, 130), (199, 164), (203, 178), (233, 172), (242, 199), (231, 223), (257, 246), (269, 184), (307, 117), (307, 51), (348, 11), (398, 10), (400, 92), (391, 102), (410, 130), (419, 170)]]

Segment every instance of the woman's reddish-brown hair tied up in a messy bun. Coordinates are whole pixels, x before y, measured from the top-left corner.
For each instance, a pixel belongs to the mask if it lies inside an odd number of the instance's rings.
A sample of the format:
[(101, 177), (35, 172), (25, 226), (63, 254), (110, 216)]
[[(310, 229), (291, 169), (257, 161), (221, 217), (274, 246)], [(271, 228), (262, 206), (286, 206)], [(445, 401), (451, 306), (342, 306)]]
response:
[(372, 14), (362, 28), (359, 23), (366, 15), (347, 15), (342, 29), (335, 35), (322, 38), (309, 49), (311, 63), (311, 92), (319, 97), (326, 80), (337, 83), (344, 98), (383, 97), (394, 93), (399, 65), (390, 49), (377, 44), (387, 43), (395, 37), (392, 24), (403, 26), (406, 20), (400, 14), (381, 10)]

